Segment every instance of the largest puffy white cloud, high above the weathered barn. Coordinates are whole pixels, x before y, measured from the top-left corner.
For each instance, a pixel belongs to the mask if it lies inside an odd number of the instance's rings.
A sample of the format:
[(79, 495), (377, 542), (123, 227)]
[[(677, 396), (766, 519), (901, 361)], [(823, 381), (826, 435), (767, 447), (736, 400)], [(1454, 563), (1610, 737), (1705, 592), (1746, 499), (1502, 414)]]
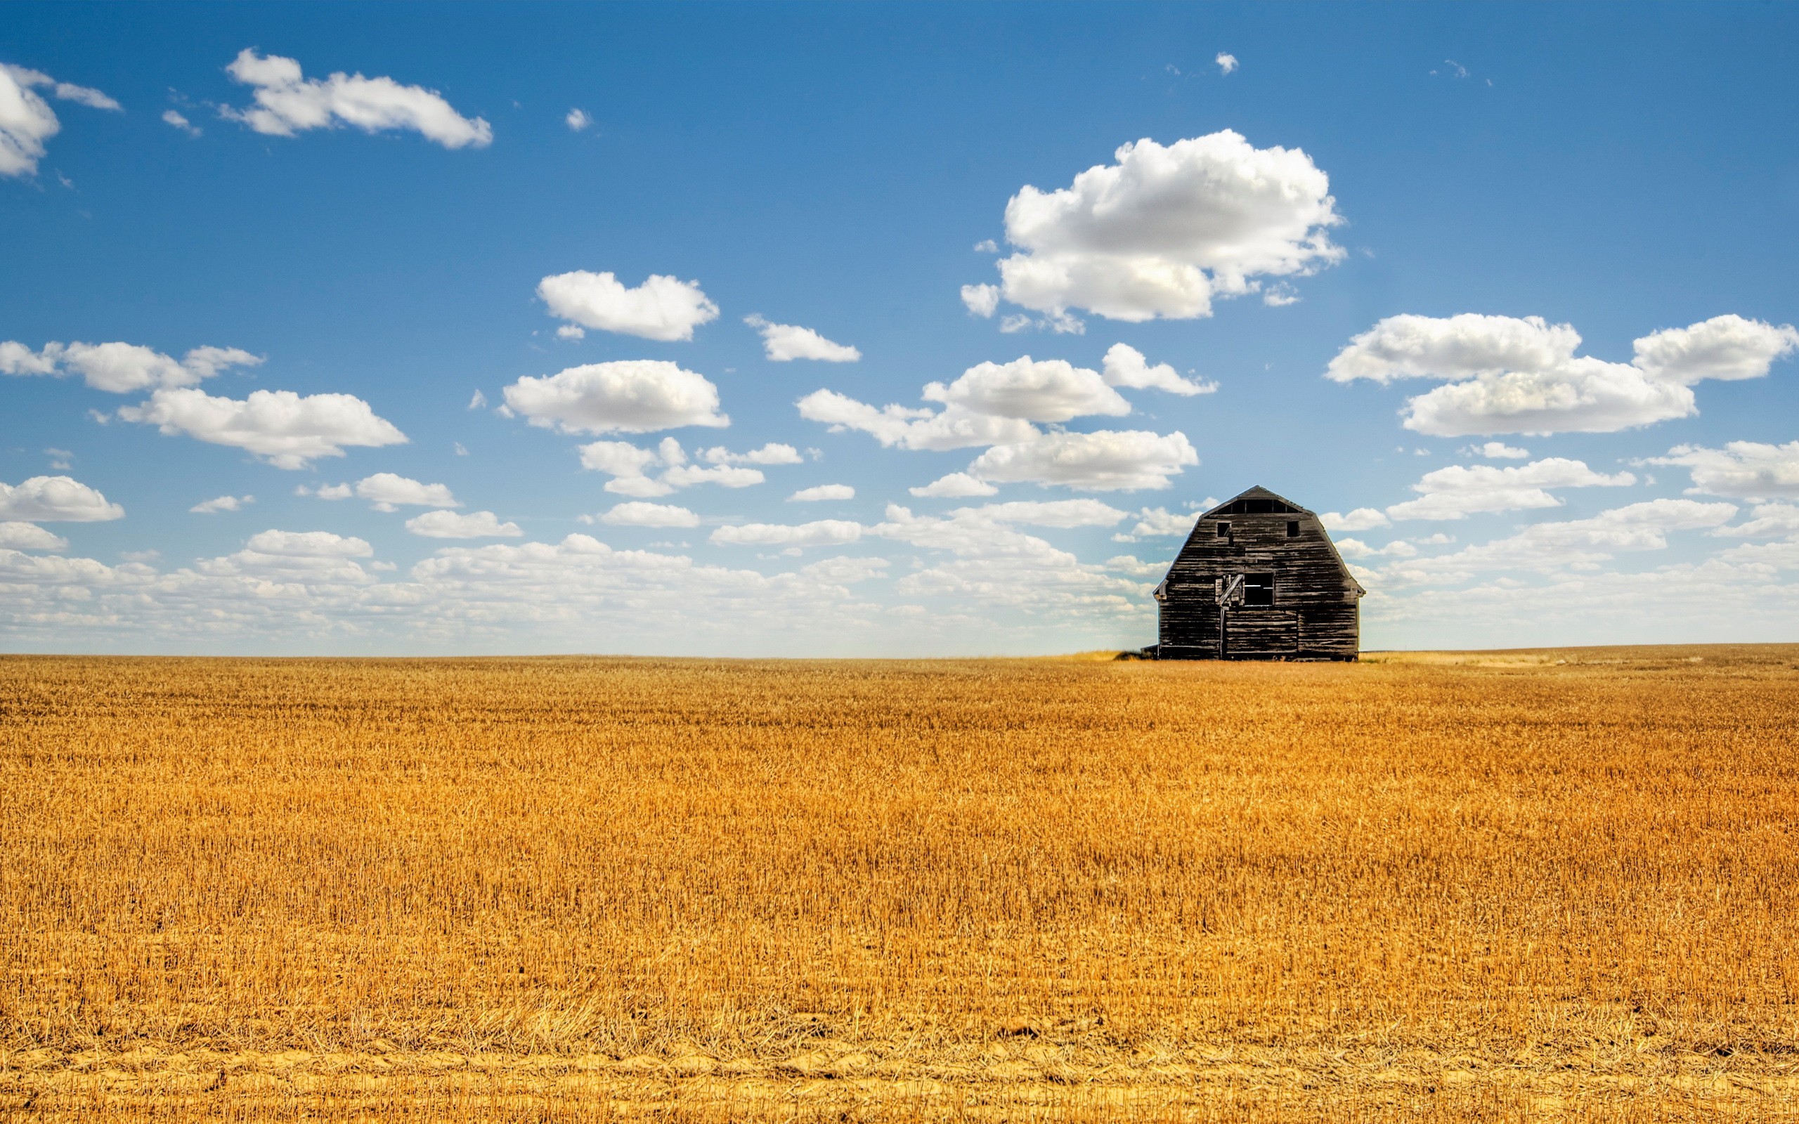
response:
[[(1306, 275), (1342, 257), (1329, 178), (1301, 149), (1258, 149), (1234, 131), (1124, 144), (1070, 187), (1022, 187), (1006, 205), (1006, 300), (1060, 317), (1209, 317), (1213, 297), (1259, 277)], [(964, 290), (964, 300), (966, 300)], [(973, 306), (971, 306), (973, 308)], [(979, 311), (979, 309), (975, 309)]]

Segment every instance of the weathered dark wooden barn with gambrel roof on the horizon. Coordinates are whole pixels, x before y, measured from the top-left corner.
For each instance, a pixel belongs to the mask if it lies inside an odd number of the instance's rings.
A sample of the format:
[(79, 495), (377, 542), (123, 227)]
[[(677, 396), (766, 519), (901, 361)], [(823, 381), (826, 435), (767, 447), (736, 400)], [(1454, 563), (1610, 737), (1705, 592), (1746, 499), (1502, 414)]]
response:
[(1157, 660), (1355, 660), (1360, 597), (1319, 516), (1252, 487), (1200, 516), (1155, 588)]

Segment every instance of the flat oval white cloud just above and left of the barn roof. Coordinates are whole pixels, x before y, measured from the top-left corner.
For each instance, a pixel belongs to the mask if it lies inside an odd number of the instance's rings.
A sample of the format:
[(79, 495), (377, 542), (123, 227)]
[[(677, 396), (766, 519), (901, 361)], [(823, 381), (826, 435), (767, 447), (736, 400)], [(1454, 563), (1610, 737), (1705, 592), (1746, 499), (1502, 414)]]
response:
[(1198, 464), (1187, 435), (1144, 430), (1096, 433), (1040, 433), (1015, 444), (997, 444), (975, 457), (968, 473), (1002, 484), (1061, 484), (1081, 491), (1137, 491), (1168, 487), (1169, 477)]

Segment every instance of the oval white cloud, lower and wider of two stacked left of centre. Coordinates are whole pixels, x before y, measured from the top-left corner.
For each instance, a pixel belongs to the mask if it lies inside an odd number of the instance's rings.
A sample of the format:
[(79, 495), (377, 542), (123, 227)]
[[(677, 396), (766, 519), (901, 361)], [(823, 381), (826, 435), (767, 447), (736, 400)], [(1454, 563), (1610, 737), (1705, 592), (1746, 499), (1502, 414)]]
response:
[(667, 360), (615, 360), (520, 378), (506, 405), (534, 426), (565, 433), (649, 433), (678, 426), (729, 426), (718, 387)]

